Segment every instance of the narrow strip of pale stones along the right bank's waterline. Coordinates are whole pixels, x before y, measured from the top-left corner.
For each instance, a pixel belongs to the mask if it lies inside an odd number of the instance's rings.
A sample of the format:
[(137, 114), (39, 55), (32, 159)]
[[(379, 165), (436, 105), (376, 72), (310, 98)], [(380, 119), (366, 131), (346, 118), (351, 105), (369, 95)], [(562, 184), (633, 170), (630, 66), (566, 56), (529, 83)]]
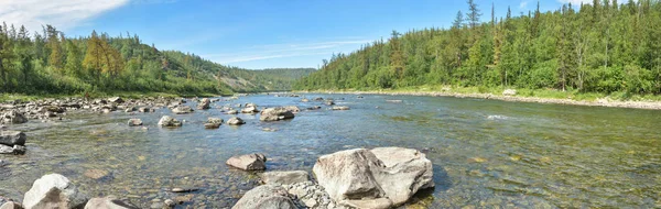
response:
[(502, 95), (492, 94), (459, 94), (446, 91), (353, 91), (353, 90), (322, 90), (322, 91), (302, 91), (302, 92), (316, 92), (316, 94), (351, 94), (351, 95), (389, 95), (389, 96), (425, 96), (425, 97), (455, 97), (455, 98), (476, 98), (476, 99), (495, 99), (502, 101), (514, 101), (514, 102), (533, 102), (533, 103), (557, 103), (567, 106), (589, 106), (589, 107), (609, 107), (609, 108), (632, 108), (632, 109), (648, 109), (648, 110), (661, 110), (661, 102), (659, 101), (620, 101), (608, 98), (597, 99), (595, 101), (586, 100), (573, 100), (573, 99), (554, 99), (554, 98), (537, 98), (537, 97), (524, 97), (518, 96), (516, 90), (506, 89)]

